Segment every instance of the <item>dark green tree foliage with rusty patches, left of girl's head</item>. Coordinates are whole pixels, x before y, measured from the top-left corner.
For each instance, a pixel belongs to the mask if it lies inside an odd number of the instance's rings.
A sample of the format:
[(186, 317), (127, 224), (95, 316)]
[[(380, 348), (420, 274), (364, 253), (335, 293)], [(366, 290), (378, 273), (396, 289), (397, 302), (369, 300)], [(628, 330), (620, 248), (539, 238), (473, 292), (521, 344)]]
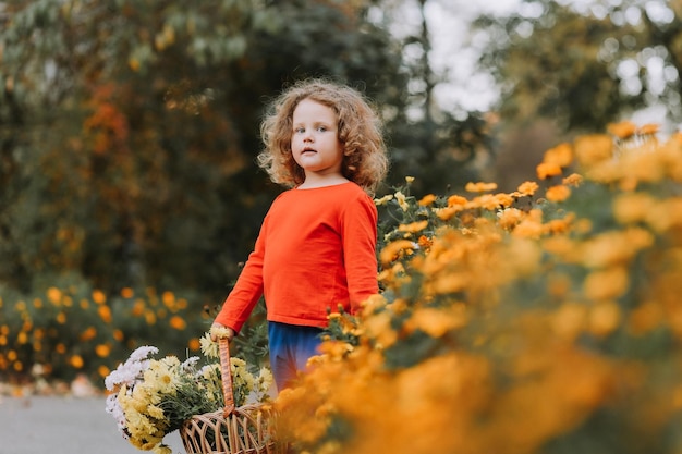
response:
[(330, 76), (402, 107), (400, 52), (366, 7), (7, 2), (0, 281), (222, 300), (280, 191), (254, 162), (265, 97)]

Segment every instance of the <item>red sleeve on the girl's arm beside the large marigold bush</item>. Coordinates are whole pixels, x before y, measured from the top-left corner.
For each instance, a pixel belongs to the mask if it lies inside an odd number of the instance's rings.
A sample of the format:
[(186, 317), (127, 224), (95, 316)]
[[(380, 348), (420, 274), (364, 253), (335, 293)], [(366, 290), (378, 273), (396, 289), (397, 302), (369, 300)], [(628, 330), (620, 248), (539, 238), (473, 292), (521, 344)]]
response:
[(376, 253), (377, 221), (377, 207), (366, 194), (362, 194), (344, 210), (343, 256), (351, 314), (357, 312), (361, 304), (369, 296), (379, 293)]

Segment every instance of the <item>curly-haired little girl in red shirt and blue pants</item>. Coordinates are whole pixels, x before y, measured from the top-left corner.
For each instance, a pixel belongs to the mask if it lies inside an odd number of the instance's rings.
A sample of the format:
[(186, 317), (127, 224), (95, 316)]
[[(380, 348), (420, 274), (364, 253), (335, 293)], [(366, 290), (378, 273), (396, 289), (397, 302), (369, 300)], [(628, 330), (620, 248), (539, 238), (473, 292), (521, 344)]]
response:
[(254, 250), (214, 327), (239, 333), (263, 295), (279, 390), (305, 370), (329, 311), (355, 312), (378, 293), (377, 209), (386, 175), (381, 124), (356, 90), (312, 79), (272, 103), (258, 164), (289, 187), (272, 203)]

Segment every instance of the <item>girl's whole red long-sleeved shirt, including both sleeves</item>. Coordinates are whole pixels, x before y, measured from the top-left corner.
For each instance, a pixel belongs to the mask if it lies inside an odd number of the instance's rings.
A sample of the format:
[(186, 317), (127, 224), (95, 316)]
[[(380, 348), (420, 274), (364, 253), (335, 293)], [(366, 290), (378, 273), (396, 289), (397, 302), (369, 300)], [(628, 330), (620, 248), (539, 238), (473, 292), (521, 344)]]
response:
[(326, 327), (378, 293), (377, 209), (355, 183), (280, 194), (216, 321), (239, 332), (261, 295), (267, 318)]

